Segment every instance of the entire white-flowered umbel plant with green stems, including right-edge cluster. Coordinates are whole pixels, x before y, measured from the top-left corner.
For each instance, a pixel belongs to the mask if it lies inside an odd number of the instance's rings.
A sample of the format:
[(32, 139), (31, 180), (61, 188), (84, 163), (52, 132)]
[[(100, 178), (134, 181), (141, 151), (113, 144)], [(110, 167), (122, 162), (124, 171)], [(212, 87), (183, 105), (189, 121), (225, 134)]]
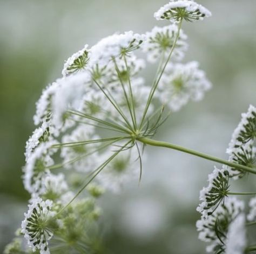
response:
[[(230, 191), (230, 180), (256, 173), (255, 107), (250, 105), (242, 114), (227, 149), (228, 160), (153, 139), (172, 112), (201, 100), (211, 88), (196, 61), (180, 62), (187, 50), (182, 24), (210, 16), (192, 0), (170, 1), (154, 14), (170, 25), (145, 34), (113, 34), (66, 60), (63, 76), (46, 87), (36, 104), (33, 119), (38, 127), (26, 143), (23, 168), (29, 209), (5, 253), (104, 252), (97, 198), (142, 178), (146, 145), (223, 165), (209, 175), (200, 193), (199, 238), (215, 253), (256, 249), (246, 235), (246, 225), (254, 224), (256, 216), (255, 197), (247, 217), (244, 202), (229, 197), (255, 194)], [(142, 77), (146, 61), (138, 58), (139, 51), (149, 62), (158, 62), (151, 86)], [(82, 194), (85, 189), (87, 195)]]

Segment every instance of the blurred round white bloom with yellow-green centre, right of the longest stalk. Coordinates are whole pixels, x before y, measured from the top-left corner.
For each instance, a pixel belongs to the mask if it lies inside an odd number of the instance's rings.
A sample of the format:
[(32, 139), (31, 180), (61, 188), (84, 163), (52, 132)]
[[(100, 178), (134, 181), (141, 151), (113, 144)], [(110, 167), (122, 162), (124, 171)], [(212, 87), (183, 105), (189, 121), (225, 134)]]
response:
[(211, 88), (205, 72), (198, 69), (198, 62), (185, 65), (169, 63), (159, 82), (159, 97), (173, 111), (178, 111), (189, 100), (199, 101), (205, 91)]

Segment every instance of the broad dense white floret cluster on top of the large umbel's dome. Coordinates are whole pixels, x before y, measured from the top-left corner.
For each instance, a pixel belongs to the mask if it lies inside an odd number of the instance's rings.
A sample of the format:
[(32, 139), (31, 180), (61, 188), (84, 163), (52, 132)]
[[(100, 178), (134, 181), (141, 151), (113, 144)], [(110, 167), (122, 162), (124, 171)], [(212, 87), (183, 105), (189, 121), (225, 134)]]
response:
[(132, 31), (105, 37), (91, 48), (90, 65), (104, 66), (112, 58), (129, 56), (143, 43), (143, 39), (142, 35)]

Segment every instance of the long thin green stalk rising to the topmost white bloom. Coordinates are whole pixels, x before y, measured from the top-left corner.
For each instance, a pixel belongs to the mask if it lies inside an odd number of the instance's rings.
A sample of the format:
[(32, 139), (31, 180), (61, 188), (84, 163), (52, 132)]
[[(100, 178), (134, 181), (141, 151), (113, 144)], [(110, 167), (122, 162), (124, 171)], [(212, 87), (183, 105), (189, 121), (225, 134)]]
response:
[(154, 92), (155, 92), (156, 89), (157, 89), (157, 86), (158, 86), (158, 84), (159, 84), (159, 81), (160, 81), (161, 77), (162, 77), (163, 74), (164, 74), (164, 70), (165, 70), (165, 68), (166, 68), (166, 66), (167, 66), (167, 63), (168, 63), (168, 62), (170, 61), (170, 59), (171, 59), (172, 53), (173, 53), (174, 48), (175, 48), (175, 46), (176, 46), (176, 44), (177, 44), (177, 41), (178, 41), (178, 39), (179, 39), (181, 24), (182, 24), (182, 19), (181, 19), (180, 22), (179, 22), (178, 31), (177, 31), (177, 36), (176, 36), (176, 38), (174, 39), (174, 42), (173, 42), (173, 45), (172, 45), (170, 54), (169, 54), (169, 56), (168, 56), (168, 58), (167, 58), (167, 60), (166, 60), (166, 62), (165, 62), (165, 64), (164, 64), (163, 69), (161, 70), (161, 73), (160, 73), (160, 75), (159, 75), (157, 81), (153, 84), (153, 86), (152, 86), (152, 88), (151, 88), (150, 95), (149, 95), (149, 98), (147, 99), (146, 107), (145, 107), (145, 110), (144, 110), (144, 112), (143, 112), (142, 121), (140, 122), (140, 128), (141, 128), (141, 126), (143, 125), (143, 121), (144, 121), (144, 119), (145, 119), (145, 117), (146, 117), (147, 110), (149, 109), (149, 106), (150, 106), (150, 103), (151, 103), (151, 101), (152, 101)]

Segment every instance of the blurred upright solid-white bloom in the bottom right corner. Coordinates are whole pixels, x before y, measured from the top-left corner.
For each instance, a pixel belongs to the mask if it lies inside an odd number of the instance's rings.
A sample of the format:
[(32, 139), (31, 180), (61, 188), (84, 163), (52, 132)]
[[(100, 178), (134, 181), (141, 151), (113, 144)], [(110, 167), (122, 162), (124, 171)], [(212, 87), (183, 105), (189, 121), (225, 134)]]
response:
[(245, 215), (239, 214), (228, 227), (226, 254), (244, 254), (246, 248)]

